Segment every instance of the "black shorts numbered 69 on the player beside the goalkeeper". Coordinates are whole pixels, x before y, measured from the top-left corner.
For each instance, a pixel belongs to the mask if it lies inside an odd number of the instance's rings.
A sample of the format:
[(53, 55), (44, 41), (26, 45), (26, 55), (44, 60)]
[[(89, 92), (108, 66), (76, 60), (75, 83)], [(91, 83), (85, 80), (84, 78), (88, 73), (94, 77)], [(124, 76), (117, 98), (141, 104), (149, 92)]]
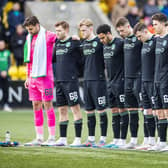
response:
[(78, 81), (56, 82), (56, 105), (74, 106), (79, 104), (79, 83)]

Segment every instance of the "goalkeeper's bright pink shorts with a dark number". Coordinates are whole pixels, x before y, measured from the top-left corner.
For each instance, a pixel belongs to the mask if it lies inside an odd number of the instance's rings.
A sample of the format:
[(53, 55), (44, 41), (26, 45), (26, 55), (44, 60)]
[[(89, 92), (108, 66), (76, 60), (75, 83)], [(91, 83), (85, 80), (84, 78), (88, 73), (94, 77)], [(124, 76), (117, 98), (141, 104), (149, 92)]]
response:
[(50, 77), (29, 78), (29, 100), (50, 101), (53, 99), (54, 81)]

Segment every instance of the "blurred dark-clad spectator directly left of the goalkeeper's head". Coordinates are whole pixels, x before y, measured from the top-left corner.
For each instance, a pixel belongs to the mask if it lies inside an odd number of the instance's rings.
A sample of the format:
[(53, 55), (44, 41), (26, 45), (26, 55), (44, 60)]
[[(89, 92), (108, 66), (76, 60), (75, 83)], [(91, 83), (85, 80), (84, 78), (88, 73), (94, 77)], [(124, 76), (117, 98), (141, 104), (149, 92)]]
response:
[(17, 66), (23, 65), (23, 49), (26, 34), (22, 25), (16, 26), (16, 33), (11, 38), (11, 48), (14, 53)]

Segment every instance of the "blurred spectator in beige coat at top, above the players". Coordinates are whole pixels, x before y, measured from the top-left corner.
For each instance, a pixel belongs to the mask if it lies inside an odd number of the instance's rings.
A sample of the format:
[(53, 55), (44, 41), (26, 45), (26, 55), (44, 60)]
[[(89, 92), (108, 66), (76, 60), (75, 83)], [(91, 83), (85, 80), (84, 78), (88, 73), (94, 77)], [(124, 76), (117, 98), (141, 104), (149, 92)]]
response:
[(128, 14), (128, 11), (128, 0), (118, 0), (117, 4), (112, 10), (112, 23), (115, 24), (118, 18), (126, 16)]

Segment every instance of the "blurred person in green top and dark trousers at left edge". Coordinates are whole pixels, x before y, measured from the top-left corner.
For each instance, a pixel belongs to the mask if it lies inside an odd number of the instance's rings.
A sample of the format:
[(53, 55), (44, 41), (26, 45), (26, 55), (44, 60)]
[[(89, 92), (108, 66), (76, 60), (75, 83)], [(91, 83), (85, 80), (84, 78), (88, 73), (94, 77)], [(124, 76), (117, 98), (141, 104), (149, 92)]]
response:
[(12, 112), (8, 105), (8, 69), (10, 66), (10, 51), (5, 48), (5, 41), (0, 41), (0, 88), (3, 91), (3, 109)]

